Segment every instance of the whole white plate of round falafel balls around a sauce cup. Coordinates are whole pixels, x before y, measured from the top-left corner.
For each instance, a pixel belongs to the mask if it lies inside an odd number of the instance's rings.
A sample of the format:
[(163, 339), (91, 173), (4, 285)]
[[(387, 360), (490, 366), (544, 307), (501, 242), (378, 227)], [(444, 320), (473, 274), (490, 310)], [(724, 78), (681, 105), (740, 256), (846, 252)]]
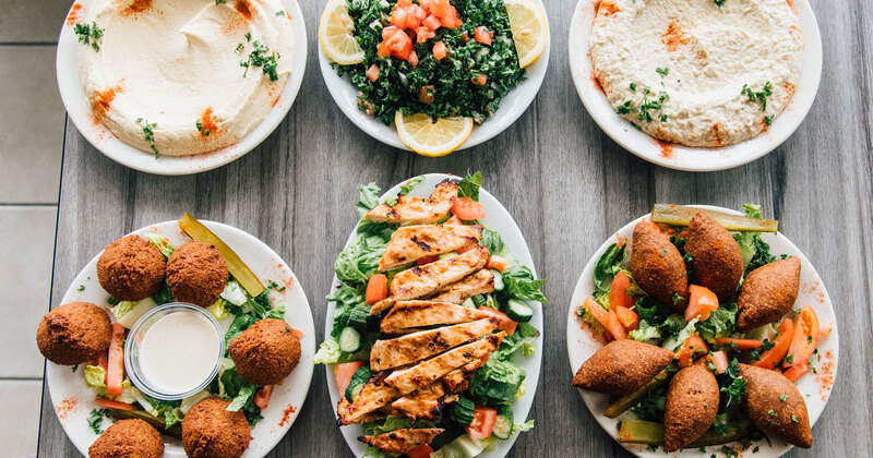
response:
[(186, 214), (112, 243), (37, 329), (58, 419), (91, 457), (262, 457), (312, 378), (306, 294), (266, 244)]

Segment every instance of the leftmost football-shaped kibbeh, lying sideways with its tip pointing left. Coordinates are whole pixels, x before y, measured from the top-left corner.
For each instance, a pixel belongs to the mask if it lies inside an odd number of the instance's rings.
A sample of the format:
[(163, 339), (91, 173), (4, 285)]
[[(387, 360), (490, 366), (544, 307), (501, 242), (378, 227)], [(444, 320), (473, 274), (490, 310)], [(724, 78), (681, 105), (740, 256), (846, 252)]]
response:
[(630, 395), (673, 361), (673, 352), (633, 339), (613, 340), (588, 358), (573, 386), (607, 395)]

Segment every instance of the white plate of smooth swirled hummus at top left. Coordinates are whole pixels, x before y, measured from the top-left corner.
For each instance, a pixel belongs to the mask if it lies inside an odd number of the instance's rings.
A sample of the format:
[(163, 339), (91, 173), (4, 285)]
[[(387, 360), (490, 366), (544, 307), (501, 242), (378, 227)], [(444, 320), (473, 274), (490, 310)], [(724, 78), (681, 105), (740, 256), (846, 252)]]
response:
[(187, 174), (239, 158), (278, 126), (306, 55), (297, 0), (80, 0), (56, 67), (70, 119), (95, 148)]

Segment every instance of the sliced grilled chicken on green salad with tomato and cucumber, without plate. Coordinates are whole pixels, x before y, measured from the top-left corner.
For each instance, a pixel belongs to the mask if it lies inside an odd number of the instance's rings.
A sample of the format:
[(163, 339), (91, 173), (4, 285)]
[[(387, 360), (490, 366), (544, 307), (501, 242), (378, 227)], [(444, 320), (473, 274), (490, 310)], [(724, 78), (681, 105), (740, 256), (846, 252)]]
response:
[(422, 180), (382, 203), (375, 183), (360, 186), (362, 218), (326, 297), (333, 326), (314, 361), (334, 365), (338, 421), (362, 423), (364, 456), (473, 457), (534, 427), (514, 423), (513, 405), (546, 281), (478, 221), (479, 172), (408, 196)]

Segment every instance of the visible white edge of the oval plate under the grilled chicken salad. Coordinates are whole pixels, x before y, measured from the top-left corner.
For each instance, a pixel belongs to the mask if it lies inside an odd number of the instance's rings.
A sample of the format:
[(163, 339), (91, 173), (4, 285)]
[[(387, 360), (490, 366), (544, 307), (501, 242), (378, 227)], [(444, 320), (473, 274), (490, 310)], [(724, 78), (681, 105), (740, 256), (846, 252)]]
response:
[[(418, 186), (416, 186), (415, 191), (410, 195), (420, 197), (428, 196), (436, 186), (436, 184), (446, 178), (450, 178), (450, 176), (443, 173), (428, 173), (424, 176), (424, 180), (421, 181)], [(400, 191), (402, 184), (403, 183), (397, 183), (394, 188), (382, 194), (380, 202), (384, 202), (388, 196), (396, 196)], [(533, 272), (534, 276), (536, 277), (537, 273), (534, 269), (534, 260), (530, 257), (530, 250), (527, 249), (527, 243), (525, 243), (522, 231), (518, 230), (518, 226), (515, 225), (515, 221), (512, 219), (512, 216), (510, 216), (510, 213), (506, 212), (506, 208), (504, 208), (503, 205), (501, 205), (501, 203), (498, 202), (498, 200), (485, 189), (479, 191), (479, 202), (485, 207), (486, 215), (488, 215), (486, 218), (482, 218), (479, 221), (497, 231), (501, 239), (503, 239), (503, 243), (506, 244), (510, 253), (512, 253), (522, 265), (529, 267), (530, 272)], [(352, 231), (348, 238), (348, 241), (346, 242), (346, 246), (348, 246), (348, 244), (351, 243), (356, 237), (357, 234), (355, 231)], [(334, 285), (339, 285), (339, 279), (336, 278), (336, 276), (334, 276)], [(331, 289), (331, 292), (333, 291), (334, 289)], [(534, 353), (533, 357), (526, 358), (521, 354), (515, 355), (515, 363), (527, 372), (527, 377), (525, 378), (525, 383), (527, 384), (525, 395), (512, 406), (515, 423), (524, 423), (527, 419), (527, 413), (530, 411), (530, 406), (534, 403), (534, 395), (537, 393), (539, 370), (542, 363), (542, 339), (545, 338), (542, 329), (542, 304), (539, 302), (528, 303), (534, 306), (534, 318), (530, 321), (530, 324), (539, 329), (539, 337), (534, 340), (534, 347), (536, 347), (537, 352)], [(327, 320), (324, 324), (325, 336), (331, 335), (331, 329), (334, 325), (333, 316), (334, 303), (330, 302), (327, 304)], [(336, 403), (339, 402), (339, 391), (337, 390), (336, 379), (334, 378), (334, 367), (332, 365), (327, 365), (324, 369), (327, 375), (327, 390), (331, 393), (331, 408), (334, 410), (334, 415), (336, 415)], [(351, 448), (351, 451), (355, 454), (355, 456), (362, 456), (367, 450), (367, 445), (358, 441), (358, 436), (363, 433), (361, 425), (349, 424), (340, 427), (339, 430), (343, 432), (343, 436), (346, 438), (346, 443), (348, 444), (349, 448)], [(497, 448), (494, 448), (493, 451), (483, 453), (480, 455), (480, 457), (500, 458), (505, 456), (512, 448), (512, 445), (515, 444), (515, 439), (517, 437), (518, 434), (516, 433), (513, 434), (509, 441), (498, 441)]]

